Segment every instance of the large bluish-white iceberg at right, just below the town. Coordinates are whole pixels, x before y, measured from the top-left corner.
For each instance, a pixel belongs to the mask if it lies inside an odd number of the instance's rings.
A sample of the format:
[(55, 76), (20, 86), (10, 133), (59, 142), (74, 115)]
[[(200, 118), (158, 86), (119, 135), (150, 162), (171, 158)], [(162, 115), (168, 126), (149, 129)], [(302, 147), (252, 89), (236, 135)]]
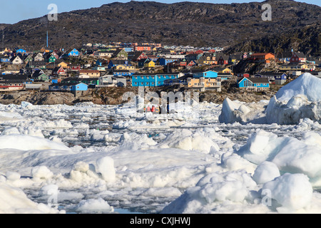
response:
[[(310, 73), (280, 88), (266, 105), (264, 101), (245, 104), (226, 99), (223, 102), (220, 123), (277, 123), (296, 125), (308, 118), (321, 120), (321, 79)], [(266, 107), (266, 108), (265, 108)]]

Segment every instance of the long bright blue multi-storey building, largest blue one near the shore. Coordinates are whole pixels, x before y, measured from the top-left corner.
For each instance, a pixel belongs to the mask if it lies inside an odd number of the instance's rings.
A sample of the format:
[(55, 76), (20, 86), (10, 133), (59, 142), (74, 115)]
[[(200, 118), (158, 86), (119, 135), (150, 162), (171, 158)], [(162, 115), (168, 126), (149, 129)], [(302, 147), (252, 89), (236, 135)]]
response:
[(155, 87), (164, 86), (164, 81), (178, 78), (177, 73), (134, 73), (131, 76), (131, 86)]

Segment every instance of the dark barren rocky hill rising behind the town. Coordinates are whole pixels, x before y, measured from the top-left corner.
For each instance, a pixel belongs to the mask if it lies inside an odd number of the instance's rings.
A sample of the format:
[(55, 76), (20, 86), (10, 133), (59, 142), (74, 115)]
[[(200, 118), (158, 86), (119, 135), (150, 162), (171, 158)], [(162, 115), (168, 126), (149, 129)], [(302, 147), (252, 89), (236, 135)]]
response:
[[(266, 3), (272, 9), (271, 21), (262, 19)], [(48, 30), (52, 47), (122, 41), (223, 46), (233, 51), (293, 48), (320, 55), (320, 15), (320, 6), (288, 0), (244, 4), (114, 2), (58, 14), (58, 21), (49, 22), (43, 16), (3, 25), (4, 46), (39, 49), (46, 45)]]

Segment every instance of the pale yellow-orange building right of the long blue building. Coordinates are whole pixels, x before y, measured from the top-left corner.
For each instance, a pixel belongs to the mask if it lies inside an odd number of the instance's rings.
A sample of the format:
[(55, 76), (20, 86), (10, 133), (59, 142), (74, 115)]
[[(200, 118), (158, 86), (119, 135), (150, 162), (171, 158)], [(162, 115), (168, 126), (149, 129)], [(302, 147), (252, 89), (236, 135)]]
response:
[(188, 88), (221, 91), (220, 78), (188, 78)]

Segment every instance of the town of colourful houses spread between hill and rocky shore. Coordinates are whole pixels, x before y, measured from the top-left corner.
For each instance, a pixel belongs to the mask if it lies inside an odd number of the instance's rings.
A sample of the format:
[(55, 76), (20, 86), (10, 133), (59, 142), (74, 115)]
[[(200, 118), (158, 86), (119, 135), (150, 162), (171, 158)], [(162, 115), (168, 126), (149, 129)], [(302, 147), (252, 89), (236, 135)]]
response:
[[(261, 64), (257, 72), (236, 72), (240, 61)], [(162, 46), (161, 43), (86, 43), (80, 48), (0, 51), (0, 91), (86, 91), (103, 87), (180, 85), (220, 92), (224, 81), (264, 91), (304, 72), (321, 78), (321, 58), (290, 51), (233, 53), (223, 48)]]

